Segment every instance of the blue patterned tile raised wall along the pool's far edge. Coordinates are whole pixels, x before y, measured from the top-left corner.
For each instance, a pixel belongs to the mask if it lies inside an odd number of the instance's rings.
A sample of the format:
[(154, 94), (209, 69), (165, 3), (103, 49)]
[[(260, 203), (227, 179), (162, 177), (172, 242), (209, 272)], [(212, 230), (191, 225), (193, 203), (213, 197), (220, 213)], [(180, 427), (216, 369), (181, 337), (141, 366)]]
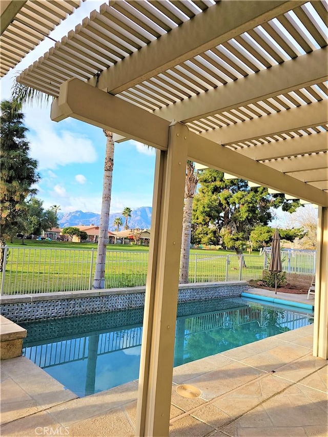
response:
[[(179, 286), (178, 302), (238, 297), (247, 282), (185, 284)], [(2, 296), (1, 314), (15, 323), (105, 313), (144, 306), (145, 287), (86, 292)]]

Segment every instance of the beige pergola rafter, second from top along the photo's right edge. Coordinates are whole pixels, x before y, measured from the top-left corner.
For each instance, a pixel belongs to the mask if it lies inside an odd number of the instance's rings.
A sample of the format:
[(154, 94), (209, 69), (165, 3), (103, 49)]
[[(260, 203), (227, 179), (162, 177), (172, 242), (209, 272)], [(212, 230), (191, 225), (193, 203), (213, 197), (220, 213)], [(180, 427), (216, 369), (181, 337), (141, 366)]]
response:
[(320, 126), (328, 121), (328, 101), (291, 108), (199, 134), (220, 144), (231, 144)]

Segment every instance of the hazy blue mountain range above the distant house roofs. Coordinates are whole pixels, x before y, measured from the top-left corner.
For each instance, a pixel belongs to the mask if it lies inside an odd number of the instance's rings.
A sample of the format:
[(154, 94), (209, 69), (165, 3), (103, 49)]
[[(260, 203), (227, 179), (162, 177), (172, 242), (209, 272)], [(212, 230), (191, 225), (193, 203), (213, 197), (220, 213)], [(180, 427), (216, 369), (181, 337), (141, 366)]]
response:
[[(110, 214), (109, 216), (109, 230), (116, 231), (113, 223), (116, 217), (121, 217), (123, 226), (120, 231), (124, 229), (125, 217), (120, 213)], [(141, 206), (132, 211), (131, 217), (128, 220), (128, 226), (130, 228), (140, 227), (141, 229), (150, 229), (150, 223), (152, 218), (152, 208), (151, 206)], [(58, 213), (58, 224), (60, 227), (67, 226), (78, 226), (84, 225), (88, 226), (90, 224), (99, 225), (100, 214), (83, 212), (83, 211), (73, 211), (72, 213)]]

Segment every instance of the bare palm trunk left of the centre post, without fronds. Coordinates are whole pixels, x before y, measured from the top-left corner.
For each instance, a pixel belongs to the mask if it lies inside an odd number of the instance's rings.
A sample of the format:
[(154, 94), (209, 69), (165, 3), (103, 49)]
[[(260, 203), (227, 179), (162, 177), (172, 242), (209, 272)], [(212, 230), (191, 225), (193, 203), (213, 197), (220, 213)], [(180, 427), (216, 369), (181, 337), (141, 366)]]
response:
[(104, 130), (107, 137), (105, 167), (104, 167), (104, 183), (103, 183), (103, 201), (101, 203), (99, 237), (97, 246), (97, 259), (95, 272), (93, 277), (92, 288), (105, 287), (105, 262), (106, 262), (106, 246), (108, 240), (109, 226), (109, 211), (111, 204), (113, 166), (114, 166), (114, 141), (113, 135), (109, 131)]

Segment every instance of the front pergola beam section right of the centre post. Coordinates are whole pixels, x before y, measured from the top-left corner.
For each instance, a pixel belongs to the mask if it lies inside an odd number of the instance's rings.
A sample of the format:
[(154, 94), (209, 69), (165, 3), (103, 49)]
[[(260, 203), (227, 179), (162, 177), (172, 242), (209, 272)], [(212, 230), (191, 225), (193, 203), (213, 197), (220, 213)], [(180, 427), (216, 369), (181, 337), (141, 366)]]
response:
[(193, 132), (188, 135), (188, 159), (317, 205), (328, 205), (327, 193)]

